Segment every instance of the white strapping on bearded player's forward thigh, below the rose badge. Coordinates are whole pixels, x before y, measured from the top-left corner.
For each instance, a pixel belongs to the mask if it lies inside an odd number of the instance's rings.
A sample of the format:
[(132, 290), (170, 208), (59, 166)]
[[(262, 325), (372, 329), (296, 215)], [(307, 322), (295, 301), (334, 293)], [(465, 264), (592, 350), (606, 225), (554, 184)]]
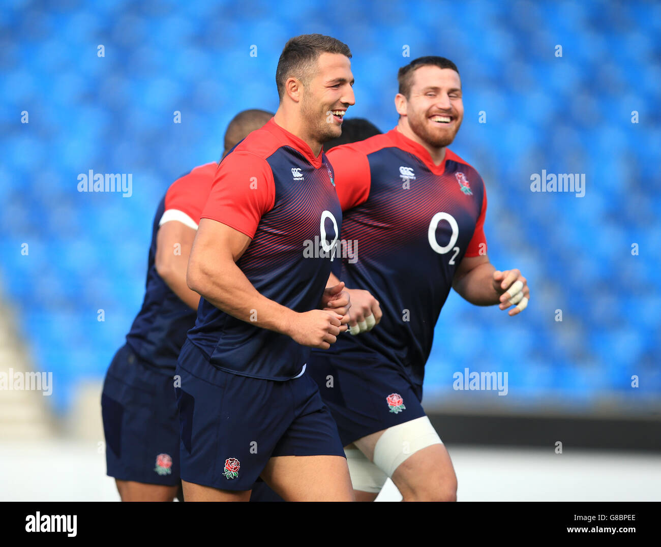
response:
[(392, 477), (407, 458), (431, 445), (443, 441), (427, 416), (405, 421), (386, 429), (374, 447), (374, 463)]

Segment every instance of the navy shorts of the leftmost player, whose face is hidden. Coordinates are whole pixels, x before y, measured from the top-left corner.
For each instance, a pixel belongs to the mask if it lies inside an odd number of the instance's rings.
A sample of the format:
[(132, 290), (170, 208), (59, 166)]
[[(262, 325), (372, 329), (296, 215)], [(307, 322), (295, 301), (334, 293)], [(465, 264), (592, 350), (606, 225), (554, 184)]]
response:
[(179, 484), (179, 418), (174, 380), (123, 346), (101, 394), (108, 476)]

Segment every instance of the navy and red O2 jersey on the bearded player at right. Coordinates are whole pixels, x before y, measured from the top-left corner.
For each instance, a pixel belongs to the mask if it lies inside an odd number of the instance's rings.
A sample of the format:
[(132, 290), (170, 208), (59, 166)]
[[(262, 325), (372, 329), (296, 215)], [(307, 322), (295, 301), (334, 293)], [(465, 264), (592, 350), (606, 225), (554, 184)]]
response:
[(325, 351), (380, 353), (422, 385), (455, 270), (464, 256), (486, 254), (483, 180), (447, 149), (435, 165), (397, 129), (336, 147), (328, 157), (346, 211), (342, 242), (352, 242), (355, 253), (343, 258), (340, 281), (368, 290), (383, 318), (369, 332), (340, 335)]

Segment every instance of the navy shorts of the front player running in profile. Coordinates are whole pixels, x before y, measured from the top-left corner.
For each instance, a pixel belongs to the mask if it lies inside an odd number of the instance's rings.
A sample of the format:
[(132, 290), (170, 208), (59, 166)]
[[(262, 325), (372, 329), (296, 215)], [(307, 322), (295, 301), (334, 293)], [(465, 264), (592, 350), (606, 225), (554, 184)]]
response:
[(344, 456), (307, 374), (283, 382), (227, 373), (186, 340), (176, 375), (182, 480), (251, 490), (272, 456)]

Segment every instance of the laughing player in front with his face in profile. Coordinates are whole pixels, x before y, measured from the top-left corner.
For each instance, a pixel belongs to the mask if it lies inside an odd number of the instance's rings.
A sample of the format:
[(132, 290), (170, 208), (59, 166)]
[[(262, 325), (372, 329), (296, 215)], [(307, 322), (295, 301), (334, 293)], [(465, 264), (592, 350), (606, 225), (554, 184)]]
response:
[(319, 307), (342, 221), (322, 145), (354, 104), (350, 57), (329, 36), (289, 40), (274, 118), (216, 172), (187, 273), (202, 299), (175, 377), (186, 501), (248, 501), (258, 477), (287, 501), (354, 499), (306, 373), (311, 347), (330, 347), (348, 320), (348, 306)]

